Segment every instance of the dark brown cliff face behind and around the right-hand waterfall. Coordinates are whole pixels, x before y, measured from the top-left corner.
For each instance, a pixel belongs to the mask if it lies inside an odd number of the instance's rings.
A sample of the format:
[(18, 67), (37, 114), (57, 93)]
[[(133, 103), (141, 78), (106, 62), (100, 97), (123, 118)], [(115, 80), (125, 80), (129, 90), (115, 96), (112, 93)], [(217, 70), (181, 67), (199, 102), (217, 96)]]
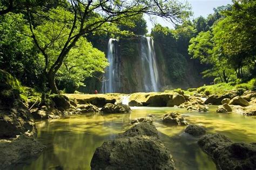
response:
[[(106, 56), (109, 57), (107, 43), (105, 45), (104, 51)], [(174, 78), (172, 76), (174, 72), (170, 72), (169, 67), (170, 62), (176, 62), (176, 60), (170, 60), (172, 56), (166, 56), (161, 45), (153, 43), (153, 40), (151, 42), (146, 37), (120, 39), (118, 42), (114, 42), (115, 49), (113, 50), (110, 73), (106, 69), (104, 75), (96, 74), (98, 78), (87, 78), (85, 80), (86, 86), (80, 87), (78, 91), (93, 93), (97, 89), (104, 93), (149, 92), (177, 87), (186, 89), (205, 83), (201, 80), (197, 63), (185, 57), (183, 59), (185, 64), (172, 63), (177, 68), (184, 67), (184, 73), (180, 76), (181, 78), (179, 80)], [(110, 74), (112, 78), (109, 77)], [(109, 84), (109, 81), (113, 81), (112, 91), (106, 90), (104, 87)]]

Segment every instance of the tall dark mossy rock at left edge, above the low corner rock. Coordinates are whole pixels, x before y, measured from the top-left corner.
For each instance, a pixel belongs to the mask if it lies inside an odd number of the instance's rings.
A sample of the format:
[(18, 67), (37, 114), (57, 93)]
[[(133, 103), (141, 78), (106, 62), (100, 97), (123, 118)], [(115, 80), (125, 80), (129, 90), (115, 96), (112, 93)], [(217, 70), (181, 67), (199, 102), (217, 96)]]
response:
[(0, 70), (0, 78), (0, 139), (15, 138), (25, 132), (35, 136), (34, 120), (20, 96), (23, 87), (5, 71)]

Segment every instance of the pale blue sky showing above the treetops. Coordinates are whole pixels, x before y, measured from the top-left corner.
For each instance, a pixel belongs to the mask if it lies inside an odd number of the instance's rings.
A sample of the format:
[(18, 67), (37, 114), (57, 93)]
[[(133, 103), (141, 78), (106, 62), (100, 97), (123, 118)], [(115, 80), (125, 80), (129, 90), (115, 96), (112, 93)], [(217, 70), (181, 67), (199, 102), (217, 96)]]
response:
[[(213, 13), (213, 8), (217, 8), (218, 6), (232, 4), (232, 0), (187, 0), (192, 7), (193, 17), (197, 18), (199, 16), (207, 17), (210, 13)], [(153, 27), (153, 23), (150, 20), (149, 16), (145, 16), (147, 21), (147, 30), (151, 32)], [(158, 17), (153, 18), (154, 22), (160, 23), (163, 26), (168, 26), (169, 28), (173, 28), (173, 25), (170, 22), (165, 21), (164, 19)]]

